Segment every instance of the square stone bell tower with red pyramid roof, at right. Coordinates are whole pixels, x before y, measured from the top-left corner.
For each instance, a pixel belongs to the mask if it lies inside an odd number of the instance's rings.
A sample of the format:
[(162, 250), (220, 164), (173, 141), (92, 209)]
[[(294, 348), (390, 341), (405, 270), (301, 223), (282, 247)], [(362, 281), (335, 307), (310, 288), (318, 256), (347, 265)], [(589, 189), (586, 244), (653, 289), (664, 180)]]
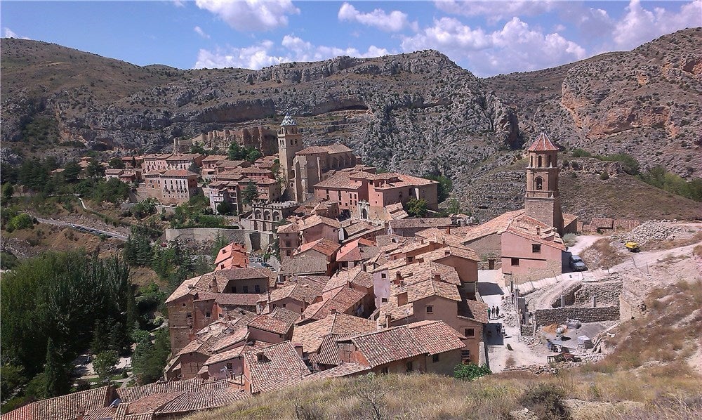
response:
[(563, 234), (563, 214), (558, 192), (558, 147), (545, 133), (527, 149), (527, 195), (524, 213)]

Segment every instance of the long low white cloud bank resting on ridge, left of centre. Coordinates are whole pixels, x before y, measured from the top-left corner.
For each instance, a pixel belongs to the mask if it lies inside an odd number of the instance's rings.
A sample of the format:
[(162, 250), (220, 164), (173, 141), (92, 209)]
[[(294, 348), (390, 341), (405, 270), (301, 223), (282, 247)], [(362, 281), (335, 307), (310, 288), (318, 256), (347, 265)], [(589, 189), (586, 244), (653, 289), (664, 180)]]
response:
[(339, 55), (369, 58), (390, 53), (385, 48), (378, 48), (372, 45), (364, 52), (351, 47), (316, 46), (294, 35), (285, 35), (280, 43), (280, 48), (275, 48), (279, 51), (285, 51), (284, 54), (276, 55), (273, 52), (274, 46), (273, 41), (266, 40), (245, 48), (218, 48), (216, 51), (201, 49), (197, 54), (197, 63), (195, 63), (194, 67), (243, 67), (258, 70), (268, 65), (291, 63), (293, 61), (327, 60)]

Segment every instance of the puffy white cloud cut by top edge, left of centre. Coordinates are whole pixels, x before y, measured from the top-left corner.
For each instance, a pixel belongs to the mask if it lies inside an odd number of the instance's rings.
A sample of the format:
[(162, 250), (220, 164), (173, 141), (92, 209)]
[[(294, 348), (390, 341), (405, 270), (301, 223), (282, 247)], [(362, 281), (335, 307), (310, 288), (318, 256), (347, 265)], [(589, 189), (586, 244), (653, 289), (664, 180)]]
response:
[(195, 4), (238, 31), (267, 31), (286, 26), (288, 15), (300, 13), (291, 0), (196, 0)]

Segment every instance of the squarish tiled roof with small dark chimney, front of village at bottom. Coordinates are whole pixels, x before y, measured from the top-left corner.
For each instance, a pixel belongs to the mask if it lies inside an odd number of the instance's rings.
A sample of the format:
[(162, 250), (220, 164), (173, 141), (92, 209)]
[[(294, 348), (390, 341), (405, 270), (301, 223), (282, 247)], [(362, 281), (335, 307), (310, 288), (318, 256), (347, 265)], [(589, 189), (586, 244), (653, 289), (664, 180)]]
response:
[(245, 353), (244, 363), (251, 374), (251, 393), (281, 389), (310, 374), (290, 341)]

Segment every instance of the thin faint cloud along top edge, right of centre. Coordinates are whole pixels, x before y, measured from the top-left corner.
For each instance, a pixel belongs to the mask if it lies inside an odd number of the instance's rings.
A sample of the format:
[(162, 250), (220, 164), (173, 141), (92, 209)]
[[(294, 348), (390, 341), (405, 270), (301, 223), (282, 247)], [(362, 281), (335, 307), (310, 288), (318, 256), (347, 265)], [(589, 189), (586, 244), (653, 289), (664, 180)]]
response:
[(515, 16), (533, 16), (551, 11), (556, 1), (550, 0), (435, 0), (434, 4), (446, 13), (463, 16), (485, 16), (490, 23)]

